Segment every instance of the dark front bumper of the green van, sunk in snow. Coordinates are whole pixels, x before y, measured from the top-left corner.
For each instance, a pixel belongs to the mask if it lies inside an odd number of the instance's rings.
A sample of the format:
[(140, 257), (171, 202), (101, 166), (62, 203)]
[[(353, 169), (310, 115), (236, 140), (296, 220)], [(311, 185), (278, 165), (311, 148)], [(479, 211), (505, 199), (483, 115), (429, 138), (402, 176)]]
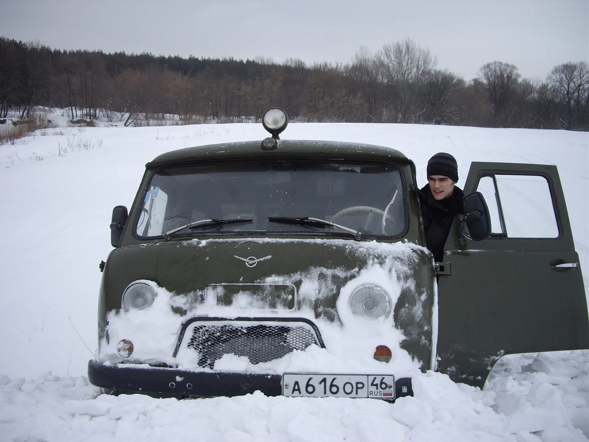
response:
[[(88, 362), (92, 385), (116, 392), (145, 393), (175, 397), (240, 396), (261, 391), (267, 396), (282, 394), (282, 375), (227, 371), (184, 371), (176, 368), (133, 367)], [(395, 380), (395, 398), (412, 396), (411, 378)]]

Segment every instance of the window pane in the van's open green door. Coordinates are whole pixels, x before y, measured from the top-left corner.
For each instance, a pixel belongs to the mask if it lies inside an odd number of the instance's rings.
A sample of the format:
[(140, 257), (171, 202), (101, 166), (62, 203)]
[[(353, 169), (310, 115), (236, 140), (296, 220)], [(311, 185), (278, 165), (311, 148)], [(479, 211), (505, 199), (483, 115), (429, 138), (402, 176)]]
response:
[(491, 236), (557, 238), (550, 186), (538, 175), (485, 174), (477, 184), (491, 216)]

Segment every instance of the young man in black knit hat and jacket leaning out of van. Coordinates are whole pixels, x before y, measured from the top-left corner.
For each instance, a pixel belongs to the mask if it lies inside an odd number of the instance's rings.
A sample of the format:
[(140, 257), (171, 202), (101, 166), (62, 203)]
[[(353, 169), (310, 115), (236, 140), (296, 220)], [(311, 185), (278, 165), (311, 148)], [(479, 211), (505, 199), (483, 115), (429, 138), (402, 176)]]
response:
[(436, 262), (444, 258), (444, 244), (454, 217), (464, 215), (464, 192), (458, 182), (458, 164), (449, 153), (436, 153), (428, 161), (428, 184), (421, 189), (420, 203), (426, 246)]

